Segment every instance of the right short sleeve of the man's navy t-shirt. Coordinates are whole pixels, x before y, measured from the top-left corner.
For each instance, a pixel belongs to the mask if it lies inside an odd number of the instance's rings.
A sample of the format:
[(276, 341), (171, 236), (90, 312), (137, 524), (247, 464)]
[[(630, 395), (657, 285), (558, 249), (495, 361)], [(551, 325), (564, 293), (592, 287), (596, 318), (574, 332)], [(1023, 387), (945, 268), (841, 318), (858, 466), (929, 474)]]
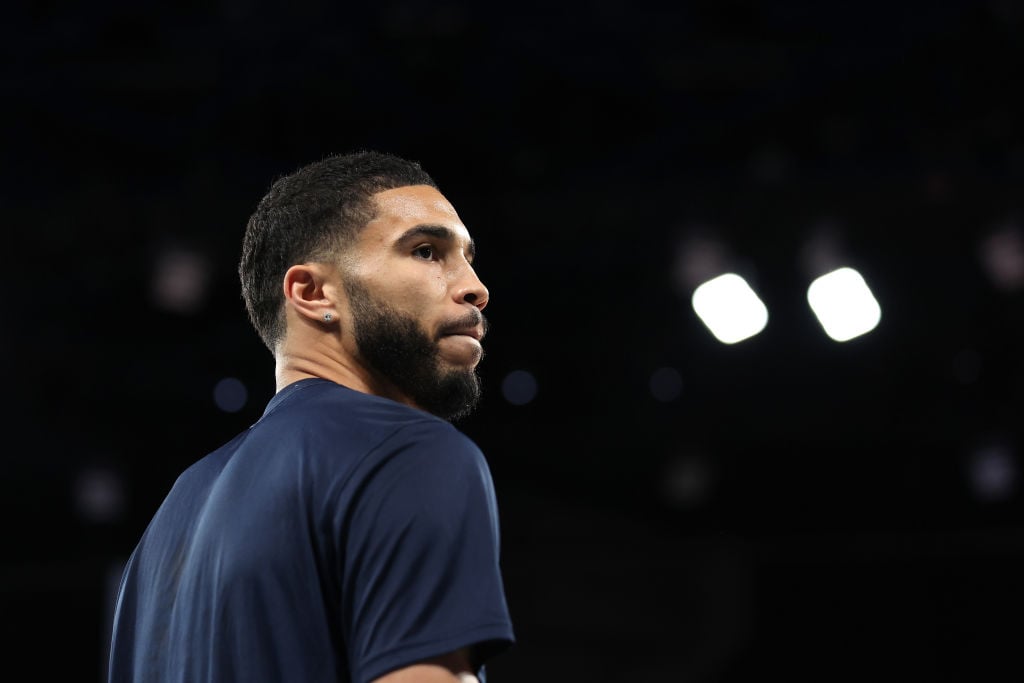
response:
[(354, 683), (513, 640), (497, 501), (479, 449), (447, 423), (402, 428), (369, 458), (340, 525), (342, 628)]

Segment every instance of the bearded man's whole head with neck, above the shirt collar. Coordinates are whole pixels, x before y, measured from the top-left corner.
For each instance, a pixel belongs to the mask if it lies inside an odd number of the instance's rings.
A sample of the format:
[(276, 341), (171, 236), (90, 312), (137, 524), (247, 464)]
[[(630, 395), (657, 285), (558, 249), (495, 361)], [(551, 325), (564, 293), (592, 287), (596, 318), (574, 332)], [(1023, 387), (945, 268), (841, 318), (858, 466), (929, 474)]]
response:
[(249, 221), (240, 274), (279, 375), (284, 365), (455, 419), (480, 394), (487, 291), (473, 256), (418, 165), (359, 153), (273, 184)]

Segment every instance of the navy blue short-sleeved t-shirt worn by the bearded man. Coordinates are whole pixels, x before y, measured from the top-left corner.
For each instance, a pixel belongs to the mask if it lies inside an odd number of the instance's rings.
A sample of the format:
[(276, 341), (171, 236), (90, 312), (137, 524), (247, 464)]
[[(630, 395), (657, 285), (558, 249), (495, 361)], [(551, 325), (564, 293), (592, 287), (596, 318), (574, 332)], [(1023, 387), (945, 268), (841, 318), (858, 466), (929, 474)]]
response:
[(309, 379), (174, 483), (125, 567), (110, 681), (367, 683), (513, 638), (479, 449)]

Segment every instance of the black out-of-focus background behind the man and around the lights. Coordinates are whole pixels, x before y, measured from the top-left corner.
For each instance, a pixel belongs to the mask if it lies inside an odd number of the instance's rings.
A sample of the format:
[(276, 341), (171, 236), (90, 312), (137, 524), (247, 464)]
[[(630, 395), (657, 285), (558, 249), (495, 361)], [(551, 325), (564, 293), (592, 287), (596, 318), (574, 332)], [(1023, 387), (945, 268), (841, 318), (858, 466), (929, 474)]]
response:
[[(492, 293), (461, 425), (519, 637), (492, 683), (1024, 674), (1020, 1), (40, 2), (0, 37), (12, 670), (100, 679), (121, 563), (273, 391), (249, 213), (374, 147)], [(822, 226), (883, 309), (846, 344), (806, 304)], [(696, 318), (695, 234), (761, 335)]]

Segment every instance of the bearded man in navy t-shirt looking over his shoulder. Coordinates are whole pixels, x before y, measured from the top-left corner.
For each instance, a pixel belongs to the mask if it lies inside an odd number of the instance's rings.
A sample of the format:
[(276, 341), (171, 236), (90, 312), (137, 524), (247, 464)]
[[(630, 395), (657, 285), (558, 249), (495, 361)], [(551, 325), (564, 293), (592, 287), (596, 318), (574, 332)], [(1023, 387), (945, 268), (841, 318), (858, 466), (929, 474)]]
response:
[(128, 560), (110, 681), (485, 680), (513, 642), (480, 397), (487, 290), (418, 164), (279, 179), (239, 267), (278, 391), (185, 470)]

